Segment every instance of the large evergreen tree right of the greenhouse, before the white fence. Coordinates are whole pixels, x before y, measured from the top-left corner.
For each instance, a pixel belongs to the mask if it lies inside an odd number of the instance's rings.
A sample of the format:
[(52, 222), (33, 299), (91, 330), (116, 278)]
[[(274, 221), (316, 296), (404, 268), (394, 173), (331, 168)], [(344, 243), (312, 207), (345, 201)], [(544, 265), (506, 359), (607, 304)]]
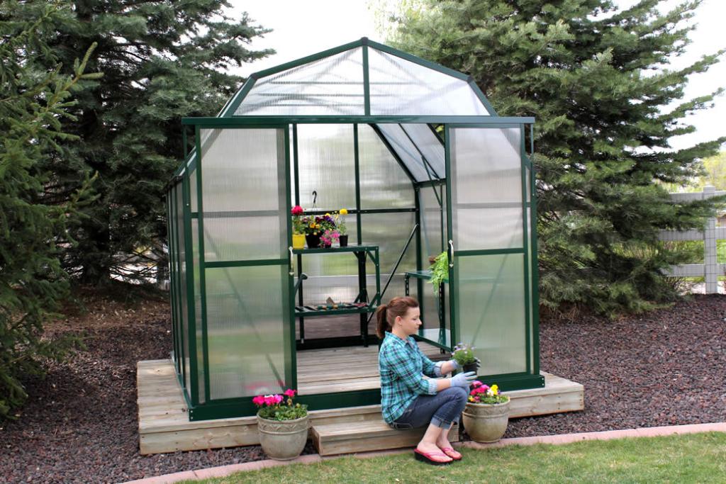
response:
[[(658, 182), (685, 184), (726, 139), (669, 150), (693, 131), (685, 115), (714, 94), (682, 101), (679, 70), (701, 1), (666, 14), (659, 0), (619, 11), (608, 0), (404, 2), (393, 43), (469, 73), (499, 115), (534, 116), (541, 303), (640, 311), (676, 297), (661, 269), (661, 229), (702, 226), (708, 202), (674, 204)], [(676, 107), (667, 107), (672, 102)]]

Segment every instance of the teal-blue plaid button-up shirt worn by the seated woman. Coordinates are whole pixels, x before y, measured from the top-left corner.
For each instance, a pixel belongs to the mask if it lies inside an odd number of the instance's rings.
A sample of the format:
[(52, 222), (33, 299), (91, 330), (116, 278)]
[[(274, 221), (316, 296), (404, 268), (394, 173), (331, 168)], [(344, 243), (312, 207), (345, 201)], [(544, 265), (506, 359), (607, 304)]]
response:
[(408, 408), (418, 395), (436, 395), (436, 382), (423, 377), (441, 377), (442, 361), (433, 363), (409, 336), (401, 340), (386, 332), (378, 352), (380, 372), (380, 409), (383, 419), (391, 423)]

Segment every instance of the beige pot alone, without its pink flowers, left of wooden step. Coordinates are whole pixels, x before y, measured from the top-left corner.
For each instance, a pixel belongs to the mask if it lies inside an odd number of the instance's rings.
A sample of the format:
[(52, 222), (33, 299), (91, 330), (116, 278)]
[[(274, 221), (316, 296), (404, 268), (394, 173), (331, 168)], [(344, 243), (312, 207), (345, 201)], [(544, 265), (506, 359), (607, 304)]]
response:
[(262, 450), (270, 459), (289, 461), (299, 456), (308, 440), (309, 419), (270, 420), (257, 416)]

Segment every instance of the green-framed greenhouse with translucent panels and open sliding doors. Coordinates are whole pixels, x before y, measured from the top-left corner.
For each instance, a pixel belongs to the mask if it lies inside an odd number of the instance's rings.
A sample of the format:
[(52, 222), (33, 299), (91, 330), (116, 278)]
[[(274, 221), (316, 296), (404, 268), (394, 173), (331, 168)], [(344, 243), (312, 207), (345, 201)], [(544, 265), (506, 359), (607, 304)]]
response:
[[(481, 380), (543, 387), (533, 123), (497, 116), (470, 76), (367, 38), (184, 118), (167, 198), (189, 419), (251, 416), (255, 395), (287, 388), (312, 410), (380, 403), (375, 309), (404, 294), (432, 359), (466, 343)], [(296, 206), (306, 227), (344, 221), (348, 244), (293, 247)], [(431, 284), (440, 254), (448, 279)]]

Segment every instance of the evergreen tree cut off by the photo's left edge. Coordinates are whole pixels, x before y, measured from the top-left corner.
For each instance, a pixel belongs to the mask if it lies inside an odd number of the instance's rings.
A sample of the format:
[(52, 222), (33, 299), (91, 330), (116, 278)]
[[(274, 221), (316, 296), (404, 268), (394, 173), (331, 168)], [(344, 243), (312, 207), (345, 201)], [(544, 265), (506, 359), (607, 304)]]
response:
[[(58, 234), (72, 220), (88, 181), (68, 201), (46, 205), (43, 194), (51, 173), (43, 160), (57, 143), (77, 140), (61, 131), (72, 118), (70, 90), (98, 75), (45, 71), (56, 60), (44, 42), (68, 15), (45, 0), (7, 0), (0, 4), (0, 419), (27, 396), (25, 374), (40, 374), (39, 359), (60, 357), (62, 345), (41, 340), (43, 321), (68, 290), (58, 259)], [(91, 46), (92, 49), (92, 46)]]

